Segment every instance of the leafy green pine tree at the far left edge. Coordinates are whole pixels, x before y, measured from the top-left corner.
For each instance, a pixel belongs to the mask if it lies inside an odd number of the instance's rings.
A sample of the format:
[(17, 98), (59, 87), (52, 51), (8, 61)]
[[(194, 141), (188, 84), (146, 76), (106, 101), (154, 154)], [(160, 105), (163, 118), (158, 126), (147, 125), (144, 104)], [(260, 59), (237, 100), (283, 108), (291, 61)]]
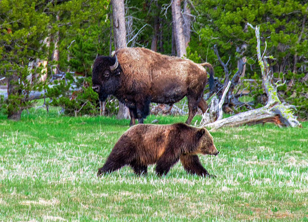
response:
[[(48, 16), (40, 10), (41, 1), (14, 0), (0, 7), (0, 76), (7, 79), (8, 98), (2, 104), (8, 119), (19, 120), (22, 110), (34, 101), (30, 93), (41, 91), (39, 64), (47, 60)], [(44, 41), (45, 40), (45, 41)]]

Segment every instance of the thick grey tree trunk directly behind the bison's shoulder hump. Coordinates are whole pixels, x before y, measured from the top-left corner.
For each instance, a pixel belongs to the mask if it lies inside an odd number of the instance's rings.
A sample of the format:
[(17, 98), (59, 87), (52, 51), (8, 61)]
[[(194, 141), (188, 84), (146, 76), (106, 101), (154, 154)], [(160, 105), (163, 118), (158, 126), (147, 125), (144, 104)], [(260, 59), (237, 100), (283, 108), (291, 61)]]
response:
[[(124, 0), (111, 0), (114, 50), (126, 47)], [(129, 109), (119, 101), (118, 119), (128, 119)]]

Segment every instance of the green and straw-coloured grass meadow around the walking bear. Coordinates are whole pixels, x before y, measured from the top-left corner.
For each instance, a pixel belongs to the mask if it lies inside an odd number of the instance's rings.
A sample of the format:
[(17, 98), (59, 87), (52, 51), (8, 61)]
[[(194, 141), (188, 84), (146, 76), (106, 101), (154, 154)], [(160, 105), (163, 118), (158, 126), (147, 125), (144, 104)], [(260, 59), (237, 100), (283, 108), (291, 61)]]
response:
[(129, 120), (29, 111), (0, 116), (0, 221), (308, 221), (308, 122), (211, 131), (220, 153), (200, 158), (217, 178), (178, 163), (164, 177), (151, 166), (146, 177), (123, 167), (97, 179)]

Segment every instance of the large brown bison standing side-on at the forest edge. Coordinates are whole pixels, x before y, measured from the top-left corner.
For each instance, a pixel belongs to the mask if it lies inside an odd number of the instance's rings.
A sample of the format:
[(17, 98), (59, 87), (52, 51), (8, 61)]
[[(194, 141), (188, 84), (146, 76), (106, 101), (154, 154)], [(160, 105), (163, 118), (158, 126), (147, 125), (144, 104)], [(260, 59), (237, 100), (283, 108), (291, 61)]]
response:
[(98, 56), (93, 64), (93, 90), (99, 100), (105, 101), (108, 95), (114, 95), (129, 108), (130, 123), (143, 123), (149, 114), (149, 104), (173, 104), (184, 96), (188, 99), (189, 115), (186, 124), (197, 112), (202, 112), (207, 104), (202, 98), (207, 83), (209, 68), (209, 86), (213, 89), (213, 67), (209, 63), (197, 64), (188, 59), (162, 55), (145, 48), (122, 48), (115, 56)]

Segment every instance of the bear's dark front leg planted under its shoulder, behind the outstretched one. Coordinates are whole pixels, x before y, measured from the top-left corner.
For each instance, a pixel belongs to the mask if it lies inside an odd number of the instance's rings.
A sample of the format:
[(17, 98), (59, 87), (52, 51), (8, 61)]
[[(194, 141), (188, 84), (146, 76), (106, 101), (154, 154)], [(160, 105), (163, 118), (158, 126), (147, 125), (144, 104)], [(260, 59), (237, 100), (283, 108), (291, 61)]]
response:
[(165, 151), (162, 156), (157, 160), (155, 171), (159, 176), (167, 174), (171, 167), (179, 161), (179, 157), (173, 152), (173, 149)]

